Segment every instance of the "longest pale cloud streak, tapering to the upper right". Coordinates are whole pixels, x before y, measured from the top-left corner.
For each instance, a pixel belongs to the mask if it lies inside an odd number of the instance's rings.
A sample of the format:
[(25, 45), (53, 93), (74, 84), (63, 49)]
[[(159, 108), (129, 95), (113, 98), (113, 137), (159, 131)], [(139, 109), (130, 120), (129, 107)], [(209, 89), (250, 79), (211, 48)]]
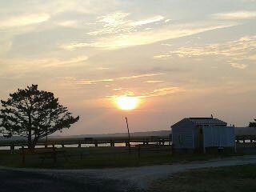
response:
[(63, 45), (66, 50), (75, 50), (82, 47), (95, 47), (103, 50), (115, 50), (129, 46), (139, 46), (161, 42), (173, 38), (181, 38), (192, 34), (202, 33), (208, 30), (222, 29), (237, 24), (183, 24), (174, 26), (160, 27), (155, 30), (136, 31), (129, 34), (118, 34), (109, 38), (97, 38), (94, 42), (78, 42)]

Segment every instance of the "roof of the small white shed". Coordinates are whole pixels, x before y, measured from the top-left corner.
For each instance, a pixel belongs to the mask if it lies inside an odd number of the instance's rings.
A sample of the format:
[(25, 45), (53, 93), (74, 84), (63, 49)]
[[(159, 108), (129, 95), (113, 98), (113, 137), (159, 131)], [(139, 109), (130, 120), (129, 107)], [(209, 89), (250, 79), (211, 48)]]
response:
[[(197, 126), (226, 126), (227, 123), (218, 118), (183, 118), (181, 121), (190, 121)], [(177, 125), (179, 122), (175, 123)], [(174, 126), (173, 125), (173, 126)]]

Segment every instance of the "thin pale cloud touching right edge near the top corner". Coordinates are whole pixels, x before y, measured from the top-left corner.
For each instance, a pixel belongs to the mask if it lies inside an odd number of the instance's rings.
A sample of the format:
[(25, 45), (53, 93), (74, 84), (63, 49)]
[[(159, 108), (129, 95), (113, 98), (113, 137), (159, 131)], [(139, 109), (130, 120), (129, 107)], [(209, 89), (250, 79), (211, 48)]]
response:
[(256, 18), (256, 11), (236, 11), (236, 12), (227, 12), (227, 13), (218, 13), (212, 14), (212, 17), (215, 19), (250, 19)]

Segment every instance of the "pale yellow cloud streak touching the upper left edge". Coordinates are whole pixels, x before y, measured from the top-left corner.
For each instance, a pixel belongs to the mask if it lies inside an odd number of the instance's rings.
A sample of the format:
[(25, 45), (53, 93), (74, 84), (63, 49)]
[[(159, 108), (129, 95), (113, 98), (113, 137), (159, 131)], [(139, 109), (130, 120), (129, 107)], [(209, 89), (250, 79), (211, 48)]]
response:
[(40, 22), (46, 22), (50, 18), (49, 14), (28, 14), (11, 18), (2, 18), (0, 21), (0, 29), (9, 29), (19, 26), (30, 26)]

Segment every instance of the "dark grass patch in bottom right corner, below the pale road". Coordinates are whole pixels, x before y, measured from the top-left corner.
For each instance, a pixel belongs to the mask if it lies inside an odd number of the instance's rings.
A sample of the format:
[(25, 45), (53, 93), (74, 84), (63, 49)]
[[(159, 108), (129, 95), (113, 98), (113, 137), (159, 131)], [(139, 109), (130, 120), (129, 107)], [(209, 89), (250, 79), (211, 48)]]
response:
[(154, 183), (150, 192), (249, 192), (256, 190), (256, 165), (190, 170)]

